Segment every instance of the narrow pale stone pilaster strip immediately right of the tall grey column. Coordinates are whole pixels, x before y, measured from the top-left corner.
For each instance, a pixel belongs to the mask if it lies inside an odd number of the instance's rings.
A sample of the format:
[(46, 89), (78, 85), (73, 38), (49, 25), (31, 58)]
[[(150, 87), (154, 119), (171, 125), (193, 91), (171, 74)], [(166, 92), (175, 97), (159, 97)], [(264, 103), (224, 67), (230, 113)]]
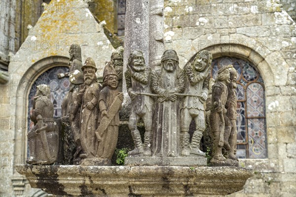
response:
[(149, 66), (160, 66), (164, 52), (164, 0), (149, 0)]

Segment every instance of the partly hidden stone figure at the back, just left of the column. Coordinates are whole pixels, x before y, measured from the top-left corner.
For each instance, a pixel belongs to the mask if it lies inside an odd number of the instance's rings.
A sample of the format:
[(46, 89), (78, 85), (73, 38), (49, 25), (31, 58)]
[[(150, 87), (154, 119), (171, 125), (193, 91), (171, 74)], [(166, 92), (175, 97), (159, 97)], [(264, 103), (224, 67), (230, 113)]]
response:
[(107, 64), (115, 68), (118, 77), (118, 91), (122, 92), (122, 75), (123, 75), (123, 48), (119, 47), (118, 51), (113, 52), (111, 61)]

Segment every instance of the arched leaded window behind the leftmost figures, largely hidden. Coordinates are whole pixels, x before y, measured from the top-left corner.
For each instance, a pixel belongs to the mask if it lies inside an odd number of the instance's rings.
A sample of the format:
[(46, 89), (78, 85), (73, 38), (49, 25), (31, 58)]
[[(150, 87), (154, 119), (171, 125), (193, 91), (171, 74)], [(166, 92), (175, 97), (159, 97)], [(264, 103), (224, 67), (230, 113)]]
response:
[[(28, 131), (30, 131), (34, 123), (31, 122), (30, 114), (33, 110), (33, 101), (36, 95), (36, 87), (40, 84), (46, 84), (50, 87), (50, 100), (53, 103), (54, 118), (59, 118), (62, 115), (61, 104), (70, 89), (70, 81), (68, 78), (58, 79), (58, 73), (69, 72), (69, 68), (65, 66), (57, 66), (50, 68), (43, 72), (31, 87), (29, 94), (29, 105), (28, 105)], [(29, 153), (29, 149), (28, 149)]]

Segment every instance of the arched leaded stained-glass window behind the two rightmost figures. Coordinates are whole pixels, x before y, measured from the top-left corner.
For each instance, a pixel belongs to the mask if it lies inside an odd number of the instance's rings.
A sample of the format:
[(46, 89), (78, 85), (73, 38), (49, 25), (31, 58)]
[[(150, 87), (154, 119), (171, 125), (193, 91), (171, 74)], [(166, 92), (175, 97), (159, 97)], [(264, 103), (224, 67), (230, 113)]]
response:
[(222, 66), (237, 71), (237, 153), (238, 158), (266, 158), (264, 82), (250, 62), (233, 57), (212, 61), (211, 77), (216, 79)]

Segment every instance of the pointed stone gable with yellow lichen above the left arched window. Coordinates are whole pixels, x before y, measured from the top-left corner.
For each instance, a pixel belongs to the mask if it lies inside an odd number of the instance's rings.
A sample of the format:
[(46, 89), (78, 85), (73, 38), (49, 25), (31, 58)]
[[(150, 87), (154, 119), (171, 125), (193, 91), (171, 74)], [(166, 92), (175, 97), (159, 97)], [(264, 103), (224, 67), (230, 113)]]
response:
[(112, 50), (110, 41), (83, 0), (51, 0), (44, 5), (44, 12), (19, 51), (11, 58), (9, 73), (23, 75), (37, 61), (50, 56), (69, 58), (72, 43), (78, 43), (82, 51), (82, 63), (86, 58), (95, 60), (97, 75), (103, 75)]

